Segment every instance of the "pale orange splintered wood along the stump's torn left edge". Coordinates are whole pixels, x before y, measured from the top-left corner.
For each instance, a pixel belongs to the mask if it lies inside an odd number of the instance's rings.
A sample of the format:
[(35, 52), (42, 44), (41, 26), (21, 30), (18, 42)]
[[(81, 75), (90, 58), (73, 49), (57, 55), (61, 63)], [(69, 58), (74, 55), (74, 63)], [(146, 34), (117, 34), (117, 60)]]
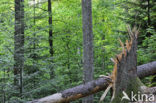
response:
[[(112, 59), (112, 61), (114, 62), (114, 69), (112, 71), (111, 76), (109, 77), (112, 79), (112, 82), (109, 84), (108, 88), (105, 90), (105, 92), (101, 96), (100, 101), (104, 100), (104, 98), (105, 98), (106, 94), (108, 93), (108, 91), (110, 90), (110, 88), (113, 89), (113, 96), (112, 96), (111, 101), (114, 99), (115, 91), (116, 91), (116, 79), (117, 79), (117, 73), (118, 73), (118, 71), (117, 71), (118, 66), (120, 65), (120, 62), (123, 61), (123, 59), (127, 57), (128, 53), (132, 49), (133, 41), (136, 41), (136, 39), (138, 37), (139, 30), (137, 30), (136, 27), (134, 27), (131, 30), (130, 26), (128, 26), (127, 30), (128, 30), (130, 40), (126, 40), (125, 45), (124, 45), (124, 43), (119, 39), (120, 45), (122, 47), (122, 52), (120, 54), (116, 55), (116, 57), (114, 59)], [(136, 43), (134, 43), (134, 45), (136, 45)]]

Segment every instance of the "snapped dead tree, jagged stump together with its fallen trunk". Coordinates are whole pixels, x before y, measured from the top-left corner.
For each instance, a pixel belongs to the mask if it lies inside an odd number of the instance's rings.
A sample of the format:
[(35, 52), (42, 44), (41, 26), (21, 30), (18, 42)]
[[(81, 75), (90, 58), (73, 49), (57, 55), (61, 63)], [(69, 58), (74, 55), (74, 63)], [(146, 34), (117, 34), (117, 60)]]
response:
[[(131, 102), (131, 100), (128, 100), (129, 98), (123, 98), (125, 96), (124, 93), (126, 93), (127, 97), (131, 97), (130, 95), (132, 92), (134, 94), (137, 94), (138, 92), (140, 94), (156, 93), (156, 87), (147, 88), (139, 79), (139, 77), (143, 78), (144, 76), (156, 74), (156, 61), (137, 67), (136, 50), (138, 31), (136, 30), (136, 28), (134, 28), (132, 31), (131, 29), (128, 29), (128, 31), (131, 40), (126, 42), (126, 48), (124, 48), (124, 45), (121, 42), (123, 51), (116, 56), (115, 63), (117, 66), (117, 71), (115, 75), (115, 80), (113, 82), (114, 98), (112, 99), (112, 103)], [(70, 101), (74, 101), (79, 98), (86, 97), (88, 95), (105, 90), (108, 87), (108, 85), (112, 83), (112, 79), (113, 78), (99, 78), (86, 84), (82, 84), (74, 88), (64, 90), (60, 93), (56, 93), (51, 96), (47, 96), (28, 103), (69, 103)], [(148, 97), (148, 99), (149, 98), (151, 97)], [(136, 99), (134, 102), (142, 103)]]

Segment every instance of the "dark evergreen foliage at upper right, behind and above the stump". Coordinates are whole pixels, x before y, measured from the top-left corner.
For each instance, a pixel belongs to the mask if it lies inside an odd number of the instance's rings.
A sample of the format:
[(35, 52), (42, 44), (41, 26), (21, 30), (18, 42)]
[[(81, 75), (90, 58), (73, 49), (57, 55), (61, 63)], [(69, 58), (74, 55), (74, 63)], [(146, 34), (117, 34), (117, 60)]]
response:
[[(149, 2), (148, 2), (149, 1)], [(154, 0), (126, 0), (121, 4), (124, 16), (121, 17), (127, 24), (140, 27), (138, 41), (138, 65), (154, 61), (156, 58), (156, 16)], [(145, 84), (149, 85), (146, 78)]]

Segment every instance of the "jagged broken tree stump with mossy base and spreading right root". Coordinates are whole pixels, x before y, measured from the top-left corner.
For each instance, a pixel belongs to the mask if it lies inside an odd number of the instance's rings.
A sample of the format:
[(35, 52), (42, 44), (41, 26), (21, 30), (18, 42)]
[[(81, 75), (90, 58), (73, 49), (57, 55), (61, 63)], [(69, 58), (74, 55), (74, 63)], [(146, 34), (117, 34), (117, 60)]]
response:
[[(113, 83), (114, 97), (112, 98), (113, 100), (111, 103), (151, 102), (142, 95), (146, 94), (147, 98), (150, 98), (151, 94), (154, 93), (154, 90), (147, 88), (137, 76), (136, 51), (138, 30), (136, 30), (136, 28), (133, 28), (133, 30), (128, 28), (128, 31), (131, 40), (130, 42), (126, 42), (125, 51), (117, 56), (117, 75), (115, 77), (115, 82)], [(123, 99), (125, 94), (127, 98)], [(156, 101), (153, 100), (152, 102)]]

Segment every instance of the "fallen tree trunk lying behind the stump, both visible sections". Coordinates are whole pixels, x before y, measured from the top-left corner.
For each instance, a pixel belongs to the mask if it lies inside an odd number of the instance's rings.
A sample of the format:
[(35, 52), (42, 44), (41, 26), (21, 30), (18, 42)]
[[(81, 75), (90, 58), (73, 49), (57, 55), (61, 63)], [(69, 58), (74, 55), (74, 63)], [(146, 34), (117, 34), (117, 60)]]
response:
[[(152, 72), (151, 72), (152, 71)], [(156, 61), (143, 64), (137, 67), (137, 75), (140, 78), (156, 74)], [(86, 84), (64, 90), (38, 100), (30, 101), (28, 103), (68, 103), (90, 94), (105, 90), (111, 82), (108, 78), (98, 78)]]

